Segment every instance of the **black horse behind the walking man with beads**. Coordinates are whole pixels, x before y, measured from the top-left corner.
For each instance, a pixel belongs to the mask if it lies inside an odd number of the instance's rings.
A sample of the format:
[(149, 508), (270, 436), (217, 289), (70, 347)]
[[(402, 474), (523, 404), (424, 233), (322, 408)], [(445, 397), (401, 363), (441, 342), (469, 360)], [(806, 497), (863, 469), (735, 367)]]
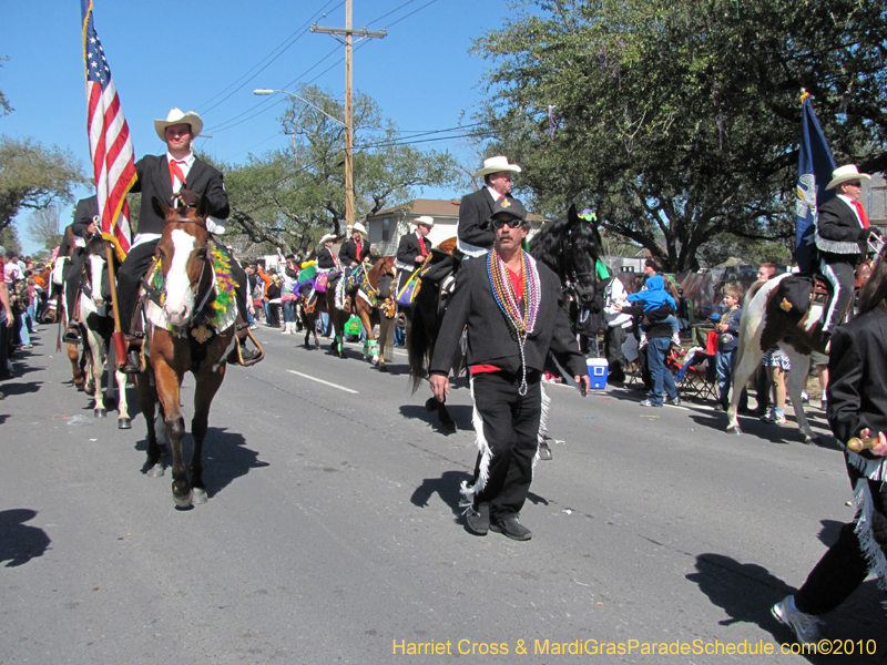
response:
[[(458, 269), (458, 257), (452, 256), (455, 245), (455, 242), (447, 241), (432, 255), (442, 254), (440, 249), (448, 250), (453, 268)], [(572, 297), (580, 309), (591, 307), (598, 294), (597, 263), (601, 255), (601, 235), (597, 225), (577, 214), (575, 205), (570, 206), (565, 217), (547, 224), (533, 236), (530, 241), (530, 254), (560, 277), (564, 295)], [(430, 260), (435, 258), (438, 257), (432, 256)], [(424, 280), (412, 311), (408, 315), (407, 350), (414, 393), (427, 375), (428, 362), (446, 311), (447, 295), (446, 288)], [(459, 369), (460, 360), (453, 359), (455, 374), (458, 375)], [(442, 402), (431, 397), (426, 402), (426, 408), (429, 411), (437, 410), (443, 427), (453, 427)]]

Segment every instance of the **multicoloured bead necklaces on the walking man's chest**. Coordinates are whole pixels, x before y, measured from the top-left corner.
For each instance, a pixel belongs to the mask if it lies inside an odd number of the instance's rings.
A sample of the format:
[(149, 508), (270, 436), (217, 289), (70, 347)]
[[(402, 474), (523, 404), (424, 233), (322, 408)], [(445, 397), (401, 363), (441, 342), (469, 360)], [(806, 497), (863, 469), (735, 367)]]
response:
[(496, 304), (499, 305), (499, 309), (502, 310), (502, 314), (504, 314), (506, 318), (518, 334), (520, 366), (522, 371), (518, 395), (523, 397), (527, 395), (527, 360), (523, 355), (523, 346), (527, 341), (527, 336), (531, 334), (536, 327), (536, 317), (539, 314), (541, 294), (539, 270), (536, 267), (533, 257), (521, 249), (520, 277), (523, 290), (523, 299), (521, 301), (518, 301), (514, 287), (511, 285), (511, 278), (508, 276), (508, 268), (496, 250), (496, 247), (490, 249), (487, 256), (487, 274), (490, 277), (492, 297), (496, 299)]

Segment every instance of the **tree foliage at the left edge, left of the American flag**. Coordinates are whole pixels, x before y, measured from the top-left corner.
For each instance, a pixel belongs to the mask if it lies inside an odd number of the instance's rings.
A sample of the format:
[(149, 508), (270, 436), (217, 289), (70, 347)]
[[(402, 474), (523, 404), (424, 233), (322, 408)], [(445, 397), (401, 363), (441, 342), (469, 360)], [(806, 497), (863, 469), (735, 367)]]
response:
[(86, 176), (70, 151), (44, 147), (32, 139), (0, 136), (0, 231), (22, 209), (71, 202)]

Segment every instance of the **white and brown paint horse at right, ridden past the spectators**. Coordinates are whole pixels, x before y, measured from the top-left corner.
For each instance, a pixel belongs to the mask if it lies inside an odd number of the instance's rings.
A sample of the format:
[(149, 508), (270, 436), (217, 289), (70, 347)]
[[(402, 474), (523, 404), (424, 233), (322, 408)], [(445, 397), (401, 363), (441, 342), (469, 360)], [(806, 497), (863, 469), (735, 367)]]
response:
[[(871, 245), (878, 254), (883, 252), (880, 243)], [(878, 259), (880, 260), (880, 258)], [(863, 286), (871, 276), (874, 262), (864, 262), (856, 270), (856, 286)], [(736, 351), (736, 367), (733, 370), (733, 390), (727, 409), (727, 432), (741, 434), (742, 428), (737, 418), (740, 397), (751, 376), (754, 374), (764, 354), (778, 345), (792, 362), (792, 371), (787, 375), (786, 390), (795, 410), (795, 419), (804, 442), (816, 443), (818, 438), (813, 433), (801, 391), (810, 366), (810, 351), (825, 352), (823, 344), (823, 316), (825, 305), (810, 303), (803, 316), (793, 311), (779, 297), (779, 284), (789, 274), (773, 277), (766, 282), (756, 282), (745, 295), (740, 324), (740, 341)], [(738, 388), (738, 389), (737, 389)]]

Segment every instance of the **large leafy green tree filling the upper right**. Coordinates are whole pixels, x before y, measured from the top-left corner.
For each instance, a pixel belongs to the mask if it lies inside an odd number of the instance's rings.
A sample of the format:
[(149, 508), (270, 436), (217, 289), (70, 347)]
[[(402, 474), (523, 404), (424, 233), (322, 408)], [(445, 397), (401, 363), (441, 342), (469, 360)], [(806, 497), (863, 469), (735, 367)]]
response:
[(476, 50), (498, 64), (497, 147), (539, 211), (591, 204), (672, 270), (717, 234), (791, 238), (802, 88), (838, 163), (887, 166), (883, 3), (534, 4)]

